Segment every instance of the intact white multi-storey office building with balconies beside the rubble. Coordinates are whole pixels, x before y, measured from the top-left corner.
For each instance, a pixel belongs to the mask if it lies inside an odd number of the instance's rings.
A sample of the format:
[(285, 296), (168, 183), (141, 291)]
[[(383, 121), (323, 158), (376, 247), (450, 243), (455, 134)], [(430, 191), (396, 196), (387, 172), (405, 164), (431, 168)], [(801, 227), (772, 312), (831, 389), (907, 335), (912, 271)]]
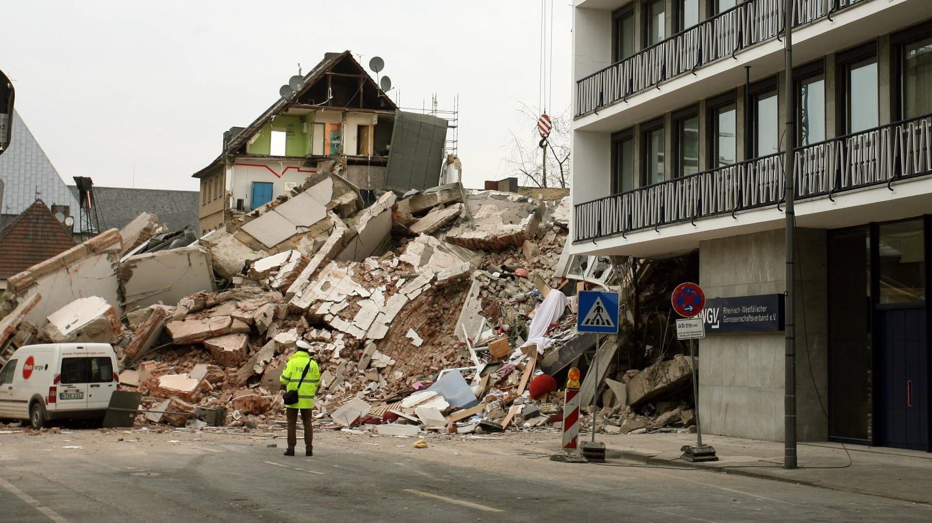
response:
[(697, 260), (704, 430), (782, 440), (791, 161), (798, 437), (932, 450), (932, 3), (793, 4), (785, 92), (784, 0), (574, 0), (569, 253)]

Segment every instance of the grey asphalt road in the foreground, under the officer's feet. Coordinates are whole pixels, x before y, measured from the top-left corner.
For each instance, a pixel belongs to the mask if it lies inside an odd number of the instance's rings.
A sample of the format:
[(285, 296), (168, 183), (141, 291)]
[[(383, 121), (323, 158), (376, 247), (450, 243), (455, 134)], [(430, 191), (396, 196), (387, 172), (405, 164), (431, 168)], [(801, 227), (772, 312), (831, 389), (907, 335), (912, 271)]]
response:
[(307, 458), (244, 435), (117, 442), (84, 432), (0, 438), (0, 520), (932, 520), (924, 504), (702, 470), (555, 463), (520, 442), (411, 449), (412, 439), (319, 435)]

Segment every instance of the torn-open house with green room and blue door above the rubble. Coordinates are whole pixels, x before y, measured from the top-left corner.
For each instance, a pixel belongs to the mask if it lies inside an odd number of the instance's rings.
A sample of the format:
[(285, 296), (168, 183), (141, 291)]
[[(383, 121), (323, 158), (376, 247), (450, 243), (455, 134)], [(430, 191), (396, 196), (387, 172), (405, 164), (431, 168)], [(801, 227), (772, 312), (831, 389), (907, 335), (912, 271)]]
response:
[[(200, 234), (318, 172), (338, 173), (363, 191), (367, 205), (374, 190), (437, 185), (446, 120), (400, 112), (349, 51), (326, 53), (294, 87), (248, 127), (226, 131), (220, 156), (193, 174), (200, 181)], [(420, 154), (425, 150), (431, 154)]]

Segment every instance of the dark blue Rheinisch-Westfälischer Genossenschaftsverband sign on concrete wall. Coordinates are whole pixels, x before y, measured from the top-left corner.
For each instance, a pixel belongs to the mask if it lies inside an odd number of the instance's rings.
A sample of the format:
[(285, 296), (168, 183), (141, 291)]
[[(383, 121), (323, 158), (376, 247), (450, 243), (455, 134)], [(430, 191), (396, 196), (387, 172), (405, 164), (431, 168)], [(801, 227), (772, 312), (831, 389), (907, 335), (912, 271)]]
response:
[(711, 298), (699, 314), (706, 333), (776, 332), (784, 329), (783, 294)]

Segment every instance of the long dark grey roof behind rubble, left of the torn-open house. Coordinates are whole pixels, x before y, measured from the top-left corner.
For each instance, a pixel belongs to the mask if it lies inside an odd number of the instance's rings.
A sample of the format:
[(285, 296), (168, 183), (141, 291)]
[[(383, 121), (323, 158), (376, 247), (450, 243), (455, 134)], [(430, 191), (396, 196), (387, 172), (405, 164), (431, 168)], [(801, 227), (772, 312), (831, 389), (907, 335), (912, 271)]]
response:
[[(77, 187), (69, 185), (68, 189), (76, 197)], [(198, 231), (198, 191), (94, 186), (94, 200), (101, 212), (102, 229), (122, 229), (141, 212), (151, 212), (170, 231), (185, 227)]]

